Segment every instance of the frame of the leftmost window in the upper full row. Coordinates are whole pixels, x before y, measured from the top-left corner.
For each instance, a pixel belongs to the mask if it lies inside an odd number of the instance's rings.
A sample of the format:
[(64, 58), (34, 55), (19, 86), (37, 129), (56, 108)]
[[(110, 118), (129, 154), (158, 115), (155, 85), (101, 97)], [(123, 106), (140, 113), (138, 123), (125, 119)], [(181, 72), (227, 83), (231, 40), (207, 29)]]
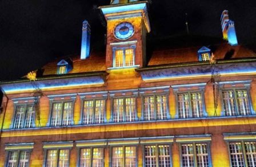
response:
[[(15, 117), (16, 117), (16, 114), (17, 114), (17, 108), (19, 106), (22, 106), (22, 105), (25, 105), (25, 108), (26, 108), (24, 119), (22, 120), (22, 127), (21, 128), (14, 128), (14, 126), (15, 126)], [(24, 129), (25, 128), (25, 122), (26, 122), (26, 116), (27, 116), (27, 108), (29, 107), (29, 105), (34, 105), (34, 108), (35, 108), (35, 104), (34, 103), (14, 103), (14, 112), (13, 112), (14, 115), (13, 115), (13, 117), (11, 119), (11, 125), (10, 125), (11, 129)], [(30, 127), (30, 128), (35, 128), (35, 120), (36, 119), (37, 119), (37, 112), (35, 110), (34, 123), (33, 123), (32, 127)]]

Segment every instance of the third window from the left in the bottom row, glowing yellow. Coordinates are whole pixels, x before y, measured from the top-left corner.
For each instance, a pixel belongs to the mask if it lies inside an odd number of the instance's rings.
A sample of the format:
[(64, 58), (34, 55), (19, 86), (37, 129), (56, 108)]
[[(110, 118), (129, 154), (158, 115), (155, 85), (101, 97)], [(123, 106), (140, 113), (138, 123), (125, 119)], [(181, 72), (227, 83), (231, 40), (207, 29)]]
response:
[(82, 148), (80, 149), (79, 167), (103, 167), (103, 148)]

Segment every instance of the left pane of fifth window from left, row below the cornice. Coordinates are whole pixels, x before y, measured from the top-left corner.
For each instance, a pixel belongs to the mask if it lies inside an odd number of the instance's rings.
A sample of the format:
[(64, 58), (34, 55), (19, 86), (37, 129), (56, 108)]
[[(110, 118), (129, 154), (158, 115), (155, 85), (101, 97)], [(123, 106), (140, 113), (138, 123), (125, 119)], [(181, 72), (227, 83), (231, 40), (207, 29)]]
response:
[(155, 120), (154, 96), (144, 97), (144, 120)]

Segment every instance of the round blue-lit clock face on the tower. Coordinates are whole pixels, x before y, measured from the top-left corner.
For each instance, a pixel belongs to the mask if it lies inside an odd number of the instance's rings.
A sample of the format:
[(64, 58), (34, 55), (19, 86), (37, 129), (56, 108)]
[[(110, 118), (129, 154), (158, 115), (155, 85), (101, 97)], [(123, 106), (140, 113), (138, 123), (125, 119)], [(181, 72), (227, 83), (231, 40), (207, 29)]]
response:
[(134, 34), (134, 27), (129, 22), (120, 23), (115, 27), (114, 35), (115, 38), (120, 40), (126, 40), (131, 38)]

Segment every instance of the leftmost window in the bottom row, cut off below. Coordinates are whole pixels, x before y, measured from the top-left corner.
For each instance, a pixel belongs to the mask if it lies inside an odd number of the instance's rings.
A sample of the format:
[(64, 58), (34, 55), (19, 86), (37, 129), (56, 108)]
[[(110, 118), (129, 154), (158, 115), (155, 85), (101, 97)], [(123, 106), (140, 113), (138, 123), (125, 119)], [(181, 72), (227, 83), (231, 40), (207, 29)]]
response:
[(13, 150), (8, 153), (7, 167), (29, 167), (29, 150)]

